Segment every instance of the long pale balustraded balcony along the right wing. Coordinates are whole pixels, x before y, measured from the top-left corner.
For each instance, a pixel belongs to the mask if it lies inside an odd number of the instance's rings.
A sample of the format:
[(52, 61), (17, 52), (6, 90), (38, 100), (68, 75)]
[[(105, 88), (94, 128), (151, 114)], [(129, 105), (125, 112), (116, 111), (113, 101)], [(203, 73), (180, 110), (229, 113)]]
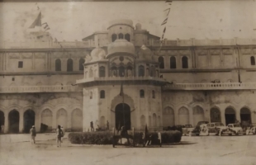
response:
[(164, 86), (164, 90), (243, 90), (256, 89), (256, 82), (225, 83), (175, 83)]

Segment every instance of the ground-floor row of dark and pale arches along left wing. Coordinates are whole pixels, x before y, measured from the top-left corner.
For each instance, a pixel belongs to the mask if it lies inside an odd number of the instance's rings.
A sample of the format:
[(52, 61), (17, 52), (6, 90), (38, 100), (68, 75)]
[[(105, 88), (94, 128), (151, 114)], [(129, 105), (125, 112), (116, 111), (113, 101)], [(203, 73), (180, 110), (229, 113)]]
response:
[(28, 109), (21, 113), (13, 109), (9, 113), (0, 110), (0, 132), (4, 133), (29, 133), (32, 125), (37, 125), (40, 132), (47, 132), (55, 129), (57, 125), (64, 126), (66, 130), (82, 131), (83, 130), (83, 111), (74, 109), (70, 115), (66, 110), (59, 109), (56, 115), (50, 109), (45, 109), (36, 118), (36, 111)]

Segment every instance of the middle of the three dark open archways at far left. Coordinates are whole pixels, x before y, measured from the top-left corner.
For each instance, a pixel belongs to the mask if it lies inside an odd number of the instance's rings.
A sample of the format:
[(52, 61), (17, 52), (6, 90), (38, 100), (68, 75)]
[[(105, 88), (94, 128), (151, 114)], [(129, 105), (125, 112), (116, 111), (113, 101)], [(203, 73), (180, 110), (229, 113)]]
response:
[(10, 111), (8, 115), (9, 133), (19, 133), (20, 113), (17, 110)]

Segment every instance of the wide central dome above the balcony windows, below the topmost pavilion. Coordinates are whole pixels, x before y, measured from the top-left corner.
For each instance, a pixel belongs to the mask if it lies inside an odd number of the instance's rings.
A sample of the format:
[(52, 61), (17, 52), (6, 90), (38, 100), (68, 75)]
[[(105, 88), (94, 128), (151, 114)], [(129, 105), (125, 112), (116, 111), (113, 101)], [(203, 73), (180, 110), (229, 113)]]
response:
[(124, 39), (115, 40), (107, 46), (107, 53), (107, 56), (114, 53), (128, 53), (135, 56), (135, 45)]

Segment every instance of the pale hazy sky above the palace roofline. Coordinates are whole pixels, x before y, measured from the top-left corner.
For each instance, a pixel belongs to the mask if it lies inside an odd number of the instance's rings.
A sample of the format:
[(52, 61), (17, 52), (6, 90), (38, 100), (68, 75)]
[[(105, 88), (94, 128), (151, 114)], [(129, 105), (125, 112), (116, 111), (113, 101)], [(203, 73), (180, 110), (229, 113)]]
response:
[[(42, 13), (57, 40), (82, 40), (95, 31), (106, 31), (108, 22), (131, 19), (153, 35), (161, 36), (165, 2), (2, 2), (0, 40), (24, 40), (24, 31)], [(256, 37), (256, 2), (174, 1), (168, 15), (168, 40), (231, 39)]]

